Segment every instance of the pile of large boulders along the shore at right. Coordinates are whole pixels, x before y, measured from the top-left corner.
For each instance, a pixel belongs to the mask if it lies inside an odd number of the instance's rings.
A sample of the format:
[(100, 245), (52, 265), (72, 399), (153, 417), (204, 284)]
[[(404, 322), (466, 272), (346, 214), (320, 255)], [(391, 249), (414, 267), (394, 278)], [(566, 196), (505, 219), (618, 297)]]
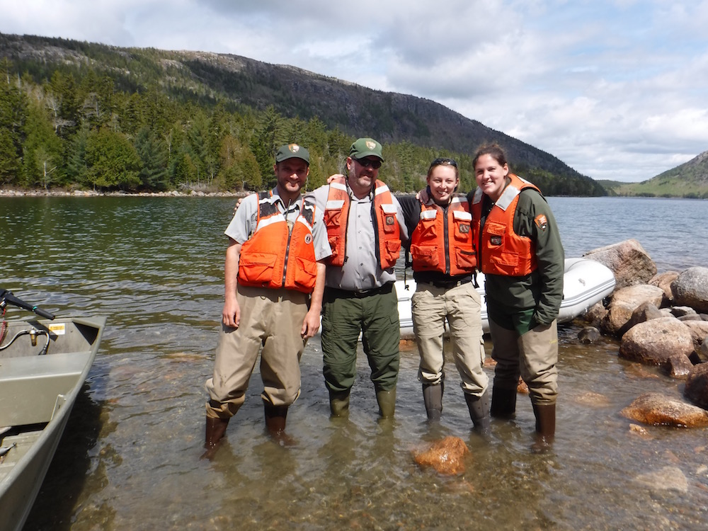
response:
[(642, 394), (622, 415), (654, 426), (708, 426), (708, 268), (657, 274), (634, 239), (583, 256), (607, 265), (616, 286), (583, 316), (588, 326), (578, 333), (579, 340), (617, 338), (620, 358), (661, 367), (684, 386), (687, 401)]

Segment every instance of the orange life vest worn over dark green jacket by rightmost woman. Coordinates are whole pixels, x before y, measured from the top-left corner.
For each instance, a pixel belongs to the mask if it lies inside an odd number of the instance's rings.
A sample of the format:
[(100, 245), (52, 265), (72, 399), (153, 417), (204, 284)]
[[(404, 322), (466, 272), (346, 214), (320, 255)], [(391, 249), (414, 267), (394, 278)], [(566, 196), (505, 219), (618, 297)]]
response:
[(532, 188), (541, 192), (535, 184), (509, 173), (511, 182), (504, 188), (501, 197), (491, 207), (479, 232), (482, 210), (482, 191), (477, 188), (472, 199), (472, 217), (475, 232), (479, 234), (478, 263), (482, 273), (525, 276), (538, 267), (535, 245), (530, 238), (514, 232), (514, 213), (521, 190)]

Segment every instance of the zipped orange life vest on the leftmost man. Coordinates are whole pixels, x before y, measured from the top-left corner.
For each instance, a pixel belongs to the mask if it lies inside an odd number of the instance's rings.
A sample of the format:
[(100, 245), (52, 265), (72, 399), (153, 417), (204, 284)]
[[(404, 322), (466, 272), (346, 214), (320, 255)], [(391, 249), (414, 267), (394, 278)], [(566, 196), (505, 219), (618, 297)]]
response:
[(312, 224), (314, 204), (302, 202), (292, 230), (271, 192), (258, 194), (256, 230), (241, 246), (239, 284), (312, 293), (317, 277)]

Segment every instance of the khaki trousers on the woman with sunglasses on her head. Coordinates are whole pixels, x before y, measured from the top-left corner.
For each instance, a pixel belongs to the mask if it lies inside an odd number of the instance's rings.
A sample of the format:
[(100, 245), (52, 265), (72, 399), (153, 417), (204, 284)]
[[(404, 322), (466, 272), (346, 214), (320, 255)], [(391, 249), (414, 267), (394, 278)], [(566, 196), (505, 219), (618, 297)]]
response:
[(421, 282), (411, 302), (413, 333), (421, 355), (418, 379), (424, 384), (438, 384), (445, 377), (442, 334), (447, 321), (452, 359), (462, 379), (460, 386), (467, 394), (481, 396), (489, 378), (482, 370), (481, 299), (472, 282), (450, 288)]

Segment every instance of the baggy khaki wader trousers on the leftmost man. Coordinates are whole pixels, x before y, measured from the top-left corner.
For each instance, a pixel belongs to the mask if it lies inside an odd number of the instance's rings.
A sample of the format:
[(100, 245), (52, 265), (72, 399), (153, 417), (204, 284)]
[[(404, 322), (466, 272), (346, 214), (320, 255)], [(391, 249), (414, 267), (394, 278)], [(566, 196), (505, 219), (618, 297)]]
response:
[(263, 401), (289, 406), (300, 393), (299, 360), (305, 341), (300, 335), (308, 295), (239, 285), (236, 297), (241, 324), (222, 324), (214, 375), (207, 379), (207, 416), (230, 418), (244, 404), (249, 379), (261, 353)]

